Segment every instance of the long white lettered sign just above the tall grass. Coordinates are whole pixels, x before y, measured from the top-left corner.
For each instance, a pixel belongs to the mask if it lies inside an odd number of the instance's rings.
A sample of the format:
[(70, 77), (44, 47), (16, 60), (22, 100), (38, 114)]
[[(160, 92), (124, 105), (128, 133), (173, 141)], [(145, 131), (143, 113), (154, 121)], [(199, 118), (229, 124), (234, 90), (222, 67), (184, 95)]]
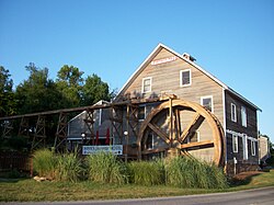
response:
[(112, 145), (112, 146), (82, 146), (82, 155), (92, 155), (103, 152), (112, 152), (113, 155), (123, 155), (123, 145)]

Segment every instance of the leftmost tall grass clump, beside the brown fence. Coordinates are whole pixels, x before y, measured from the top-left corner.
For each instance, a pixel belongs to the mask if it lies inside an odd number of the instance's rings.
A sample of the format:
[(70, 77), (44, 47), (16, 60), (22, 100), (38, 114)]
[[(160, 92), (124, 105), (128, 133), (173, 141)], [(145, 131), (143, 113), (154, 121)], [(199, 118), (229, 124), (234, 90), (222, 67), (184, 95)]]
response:
[(39, 176), (55, 179), (57, 159), (48, 149), (39, 149), (33, 155), (33, 169)]

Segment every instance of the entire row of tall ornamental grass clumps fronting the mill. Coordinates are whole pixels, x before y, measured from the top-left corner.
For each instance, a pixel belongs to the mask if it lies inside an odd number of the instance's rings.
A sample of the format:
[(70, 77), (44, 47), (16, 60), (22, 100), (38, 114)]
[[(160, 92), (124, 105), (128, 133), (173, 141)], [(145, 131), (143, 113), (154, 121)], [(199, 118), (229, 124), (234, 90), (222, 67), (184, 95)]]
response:
[(226, 175), (220, 168), (189, 157), (125, 163), (116, 156), (106, 152), (90, 155), (83, 161), (79, 159), (77, 151), (54, 153), (42, 149), (34, 153), (33, 166), (39, 176), (56, 181), (77, 182), (87, 178), (99, 183), (228, 187)]

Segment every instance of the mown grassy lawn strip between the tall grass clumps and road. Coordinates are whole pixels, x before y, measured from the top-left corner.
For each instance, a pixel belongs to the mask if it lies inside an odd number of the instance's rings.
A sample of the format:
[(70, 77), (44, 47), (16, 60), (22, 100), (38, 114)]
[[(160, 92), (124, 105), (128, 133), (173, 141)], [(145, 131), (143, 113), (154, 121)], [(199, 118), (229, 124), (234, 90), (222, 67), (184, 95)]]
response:
[(239, 191), (274, 185), (274, 171), (261, 172), (237, 181), (226, 190), (179, 189), (155, 185), (105, 185), (91, 182), (36, 182), (32, 179), (0, 179), (0, 202), (11, 201), (85, 201), (190, 195)]

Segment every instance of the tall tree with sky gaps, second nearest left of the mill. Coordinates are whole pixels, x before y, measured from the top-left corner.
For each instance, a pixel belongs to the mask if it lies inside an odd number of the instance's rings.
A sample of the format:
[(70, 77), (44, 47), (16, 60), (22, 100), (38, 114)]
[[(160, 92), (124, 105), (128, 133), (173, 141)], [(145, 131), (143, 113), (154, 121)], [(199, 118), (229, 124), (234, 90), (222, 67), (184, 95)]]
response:
[(64, 107), (80, 106), (83, 72), (79, 68), (65, 65), (57, 73), (57, 87), (64, 96)]

